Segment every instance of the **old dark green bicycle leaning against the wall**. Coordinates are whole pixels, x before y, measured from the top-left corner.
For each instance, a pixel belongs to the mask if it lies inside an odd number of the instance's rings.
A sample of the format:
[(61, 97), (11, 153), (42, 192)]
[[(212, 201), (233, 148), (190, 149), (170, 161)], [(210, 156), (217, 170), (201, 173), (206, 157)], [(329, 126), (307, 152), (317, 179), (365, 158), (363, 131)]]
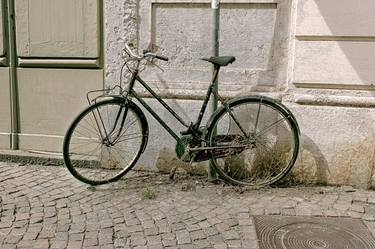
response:
[[(82, 182), (98, 185), (114, 182), (129, 172), (148, 141), (148, 122), (137, 100), (176, 140), (176, 155), (185, 162), (210, 160), (218, 175), (236, 185), (263, 186), (277, 182), (293, 167), (299, 150), (299, 127), (290, 110), (264, 96), (225, 100), (214, 91), (220, 68), (235, 61), (233, 56), (211, 57), (214, 73), (196, 122), (185, 122), (140, 77), (140, 65), (167, 57), (125, 45), (131, 77), (126, 89), (120, 84), (109, 90), (87, 94), (89, 106), (72, 122), (64, 138), (63, 155), (68, 170)], [(131, 68), (130, 63), (134, 63)], [(177, 135), (134, 90), (140, 83), (186, 130)], [(101, 95), (90, 99), (95, 92)], [(221, 106), (201, 126), (211, 95)]]

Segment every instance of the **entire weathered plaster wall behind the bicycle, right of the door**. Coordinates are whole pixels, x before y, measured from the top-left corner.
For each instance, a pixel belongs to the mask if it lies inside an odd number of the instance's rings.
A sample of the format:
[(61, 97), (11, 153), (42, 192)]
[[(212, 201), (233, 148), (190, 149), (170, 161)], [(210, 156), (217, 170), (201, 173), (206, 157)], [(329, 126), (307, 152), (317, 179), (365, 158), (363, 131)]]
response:
[[(209, 1), (107, 0), (107, 84), (118, 82), (124, 42), (152, 47), (171, 60), (160, 63), (164, 73), (151, 68), (144, 78), (194, 120), (210, 76), (197, 60), (210, 55), (209, 7)], [(223, 70), (221, 93), (273, 93), (293, 110), (302, 132), (294, 169), (301, 180), (373, 186), (375, 3), (228, 0), (222, 8), (221, 54), (236, 55), (237, 62)], [(148, 120), (150, 143), (140, 165), (155, 169), (160, 149), (172, 150), (174, 141)]]

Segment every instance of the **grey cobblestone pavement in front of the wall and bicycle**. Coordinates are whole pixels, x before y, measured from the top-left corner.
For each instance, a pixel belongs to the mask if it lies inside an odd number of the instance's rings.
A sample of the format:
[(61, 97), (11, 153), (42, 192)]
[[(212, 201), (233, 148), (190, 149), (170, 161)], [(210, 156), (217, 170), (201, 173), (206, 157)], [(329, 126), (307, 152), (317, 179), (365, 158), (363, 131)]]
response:
[(255, 249), (253, 216), (262, 214), (354, 217), (375, 231), (372, 191), (244, 190), (177, 178), (133, 173), (94, 188), (63, 167), (0, 163), (0, 248)]

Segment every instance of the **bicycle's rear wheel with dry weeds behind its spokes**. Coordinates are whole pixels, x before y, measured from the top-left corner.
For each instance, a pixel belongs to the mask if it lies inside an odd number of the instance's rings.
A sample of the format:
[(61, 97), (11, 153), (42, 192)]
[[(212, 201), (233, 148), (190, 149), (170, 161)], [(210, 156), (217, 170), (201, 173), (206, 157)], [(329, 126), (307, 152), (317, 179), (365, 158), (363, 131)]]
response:
[(264, 97), (229, 102), (208, 125), (206, 139), (217, 172), (236, 185), (277, 182), (288, 174), (299, 149), (291, 112)]

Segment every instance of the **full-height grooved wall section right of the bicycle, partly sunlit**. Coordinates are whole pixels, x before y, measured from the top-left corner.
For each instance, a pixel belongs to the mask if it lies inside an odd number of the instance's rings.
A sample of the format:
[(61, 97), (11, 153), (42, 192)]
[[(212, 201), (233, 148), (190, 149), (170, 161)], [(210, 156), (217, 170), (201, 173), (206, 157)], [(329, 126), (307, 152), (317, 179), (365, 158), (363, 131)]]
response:
[(296, 0), (284, 102), (301, 126), (305, 181), (374, 186), (375, 2)]

